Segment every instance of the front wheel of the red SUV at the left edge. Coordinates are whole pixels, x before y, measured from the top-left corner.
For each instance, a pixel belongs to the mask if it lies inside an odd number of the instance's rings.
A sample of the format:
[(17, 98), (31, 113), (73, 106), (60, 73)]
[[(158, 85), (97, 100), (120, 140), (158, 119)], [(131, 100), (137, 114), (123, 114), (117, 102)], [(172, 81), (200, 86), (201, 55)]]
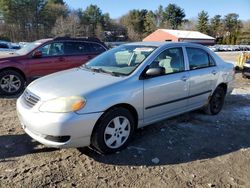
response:
[[(9, 80), (8, 80), (9, 77)], [(15, 87), (10, 86), (10, 78)], [(25, 86), (23, 76), (14, 70), (4, 70), (0, 72), (0, 94), (5, 96), (12, 96), (21, 93)], [(11, 88), (11, 89), (9, 89)]]

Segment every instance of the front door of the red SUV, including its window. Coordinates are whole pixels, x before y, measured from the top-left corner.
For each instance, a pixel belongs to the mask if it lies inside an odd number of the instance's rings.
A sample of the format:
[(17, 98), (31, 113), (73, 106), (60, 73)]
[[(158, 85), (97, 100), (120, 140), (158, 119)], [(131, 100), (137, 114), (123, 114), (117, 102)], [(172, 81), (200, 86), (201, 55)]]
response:
[(42, 56), (39, 58), (31, 57), (26, 62), (31, 78), (41, 77), (68, 68), (68, 63), (64, 58), (63, 42), (47, 43), (37, 50), (42, 52)]

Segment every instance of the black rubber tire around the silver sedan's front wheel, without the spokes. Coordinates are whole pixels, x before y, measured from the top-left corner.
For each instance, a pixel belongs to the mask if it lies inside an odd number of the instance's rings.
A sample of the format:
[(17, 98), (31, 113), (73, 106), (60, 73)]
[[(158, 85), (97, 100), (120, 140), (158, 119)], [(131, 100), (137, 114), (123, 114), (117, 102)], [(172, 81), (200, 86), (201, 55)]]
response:
[[(112, 145), (108, 146), (106, 144), (107, 141), (105, 141), (105, 140), (111, 139), (111, 137), (115, 138), (115, 139), (120, 138), (122, 140), (122, 138), (124, 137), (124, 136), (119, 137), (118, 134), (122, 134), (122, 133), (119, 133), (119, 131), (122, 132), (122, 130), (118, 130), (118, 128), (117, 128), (118, 133), (115, 132), (114, 134), (110, 134), (110, 135), (106, 134), (105, 135), (105, 133), (106, 133), (105, 131), (107, 130), (106, 128), (110, 128), (109, 126), (112, 126), (112, 124), (113, 124), (114, 128), (111, 128), (111, 129), (116, 130), (115, 123), (113, 122), (114, 119), (123, 118), (123, 117), (129, 121), (128, 127), (130, 127), (130, 128), (127, 128), (129, 131), (124, 130), (124, 131), (129, 132), (128, 137), (124, 138), (124, 140), (123, 140), (124, 143), (122, 143), (122, 145), (120, 145), (117, 148), (114, 148), (114, 146), (112, 146)], [(121, 120), (119, 119), (119, 122), (120, 121)], [(127, 110), (125, 108), (112, 108), (111, 110), (107, 111), (98, 120), (98, 122), (93, 130), (92, 136), (91, 136), (91, 145), (103, 154), (110, 154), (110, 153), (120, 151), (120, 150), (127, 147), (128, 143), (131, 140), (131, 137), (134, 133), (134, 129), (135, 129), (135, 119), (129, 110)], [(110, 137), (107, 137), (107, 136), (110, 136)], [(116, 140), (113, 141), (113, 144), (117, 144), (116, 142), (117, 142)]]

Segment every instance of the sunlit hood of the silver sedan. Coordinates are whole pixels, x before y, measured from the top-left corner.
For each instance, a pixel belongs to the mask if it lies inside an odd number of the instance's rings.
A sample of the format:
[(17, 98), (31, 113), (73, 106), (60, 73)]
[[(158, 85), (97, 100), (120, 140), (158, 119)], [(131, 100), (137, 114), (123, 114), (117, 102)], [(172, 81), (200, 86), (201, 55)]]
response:
[(93, 91), (123, 79), (124, 77), (74, 68), (35, 80), (27, 89), (39, 96), (42, 101), (66, 96), (86, 97)]

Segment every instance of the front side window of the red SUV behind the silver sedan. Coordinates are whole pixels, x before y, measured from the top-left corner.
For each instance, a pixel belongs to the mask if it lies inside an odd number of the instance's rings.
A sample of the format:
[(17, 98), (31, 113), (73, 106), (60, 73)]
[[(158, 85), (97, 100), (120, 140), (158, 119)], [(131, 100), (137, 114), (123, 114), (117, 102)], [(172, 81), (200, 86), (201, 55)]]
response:
[(64, 45), (62, 42), (47, 44), (38, 49), (42, 52), (43, 57), (59, 56), (64, 54)]

